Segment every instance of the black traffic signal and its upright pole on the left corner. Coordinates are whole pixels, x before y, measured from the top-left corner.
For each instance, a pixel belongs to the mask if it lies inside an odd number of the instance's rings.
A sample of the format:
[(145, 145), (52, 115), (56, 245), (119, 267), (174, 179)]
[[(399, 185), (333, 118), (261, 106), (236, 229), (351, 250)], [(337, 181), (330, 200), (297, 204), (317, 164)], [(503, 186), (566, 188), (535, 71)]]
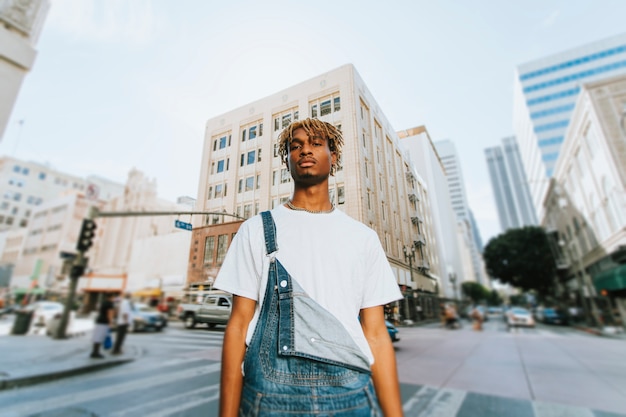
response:
[(54, 335), (55, 339), (65, 339), (67, 337), (67, 324), (69, 322), (70, 312), (74, 304), (76, 296), (76, 287), (78, 287), (78, 279), (83, 276), (89, 259), (85, 256), (85, 252), (89, 250), (95, 237), (96, 223), (93, 218), (96, 214), (95, 207), (90, 207), (87, 217), (83, 220), (78, 242), (76, 243), (76, 256), (66, 259), (65, 262), (70, 263), (70, 286), (65, 300), (65, 308), (61, 315), (59, 327)]

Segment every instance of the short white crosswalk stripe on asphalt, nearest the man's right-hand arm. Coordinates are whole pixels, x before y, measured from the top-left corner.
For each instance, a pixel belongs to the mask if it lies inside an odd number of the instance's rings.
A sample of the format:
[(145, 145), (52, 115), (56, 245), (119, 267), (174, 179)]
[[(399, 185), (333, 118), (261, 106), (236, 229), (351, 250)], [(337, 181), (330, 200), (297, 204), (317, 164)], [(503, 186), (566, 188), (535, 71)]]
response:
[(422, 387), (403, 405), (407, 417), (455, 416), (466, 396), (465, 391), (451, 388)]

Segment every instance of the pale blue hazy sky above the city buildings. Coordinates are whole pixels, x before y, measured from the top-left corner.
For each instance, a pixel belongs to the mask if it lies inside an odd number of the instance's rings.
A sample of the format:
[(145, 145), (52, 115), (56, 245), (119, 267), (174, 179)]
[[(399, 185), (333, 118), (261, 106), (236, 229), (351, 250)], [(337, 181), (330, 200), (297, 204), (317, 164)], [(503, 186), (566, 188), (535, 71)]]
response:
[(515, 68), (625, 31), (625, 0), (51, 0), (0, 155), (197, 195), (208, 119), (352, 63), (396, 130), (460, 155), (484, 243), (484, 149), (513, 134)]

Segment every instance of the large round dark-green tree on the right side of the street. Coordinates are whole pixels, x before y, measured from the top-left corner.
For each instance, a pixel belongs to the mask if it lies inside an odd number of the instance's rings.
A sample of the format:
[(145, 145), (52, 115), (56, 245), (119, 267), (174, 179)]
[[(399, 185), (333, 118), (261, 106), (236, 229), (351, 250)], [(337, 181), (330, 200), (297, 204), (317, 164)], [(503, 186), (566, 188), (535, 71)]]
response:
[(548, 236), (543, 228), (510, 229), (491, 239), (483, 251), (489, 275), (540, 296), (553, 292), (556, 267)]

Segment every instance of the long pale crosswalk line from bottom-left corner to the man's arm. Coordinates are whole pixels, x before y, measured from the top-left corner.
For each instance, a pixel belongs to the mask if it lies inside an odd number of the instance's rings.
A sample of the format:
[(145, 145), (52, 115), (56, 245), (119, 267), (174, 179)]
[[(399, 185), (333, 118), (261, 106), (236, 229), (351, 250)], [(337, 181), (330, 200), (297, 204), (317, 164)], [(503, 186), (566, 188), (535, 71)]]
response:
[(211, 374), (214, 372), (218, 372), (220, 370), (220, 367), (220, 363), (213, 363), (207, 366), (185, 369), (178, 372), (164, 373), (159, 376), (152, 375), (145, 378), (115, 384), (114, 386), (105, 386), (88, 391), (81, 391), (80, 393), (72, 393), (54, 398), (48, 398), (46, 400), (17, 404), (11, 407), (3, 408), (2, 414), (3, 416), (5, 416), (9, 415), (9, 413), (17, 413), (15, 415), (21, 416), (25, 415), (26, 413), (34, 413), (37, 411), (48, 411), (61, 407), (69, 407), (73, 404), (87, 403), (89, 401), (99, 400), (105, 397), (112, 397), (118, 394), (126, 394), (128, 392), (136, 390), (138, 386), (140, 386), (142, 389), (145, 389), (161, 384), (171, 384), (172, 382), (181, 379)]

